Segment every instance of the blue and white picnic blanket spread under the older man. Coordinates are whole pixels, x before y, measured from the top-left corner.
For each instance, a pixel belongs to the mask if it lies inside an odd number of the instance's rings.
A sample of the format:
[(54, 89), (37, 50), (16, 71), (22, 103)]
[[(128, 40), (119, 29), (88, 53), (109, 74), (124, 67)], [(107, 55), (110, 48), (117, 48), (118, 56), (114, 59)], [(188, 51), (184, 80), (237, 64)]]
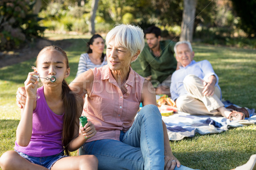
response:
[[(224, 102), (224, 105), (227, 107), (231, 103), (227, 101)], [(247, 108), (247, 110), (250, 113), (250, 117), (238, 122), (230, 122), (229, 119), (221, 116), (195, 116), (180, 111), (172, 116), (162, 116), (162, 119), (166, 124), (169, 140), (177, 141), (185, 137), (193, 137), (196, 133), (201, 135), (221, 133), (230, 127), (253, 125), (256, 123), (255, 109)]]

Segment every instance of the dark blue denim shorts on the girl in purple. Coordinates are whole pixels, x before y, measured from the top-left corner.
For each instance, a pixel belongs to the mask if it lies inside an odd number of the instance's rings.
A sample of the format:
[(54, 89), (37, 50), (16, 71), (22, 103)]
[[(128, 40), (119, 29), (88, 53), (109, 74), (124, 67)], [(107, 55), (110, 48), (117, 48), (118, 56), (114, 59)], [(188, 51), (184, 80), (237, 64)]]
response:
[(61, 152), (59, 154), (56, 155), (52, 155), (52, 156), (44, 156), (44, 157), (34, 157), (34, 156), (29, 156), (26, 155), (25, 153), (22, 152), (18, 152), (17, 150), (15, 150), (20, 156), (22, 156), (23, 158), (27, 159), (28, 161), (30, 161), (33, 164), (39, 164), (43, 167), (46, 167), (47, 169), (51, 169), (52, 165), (58, 161), (61, 158), (66, 157), (66, 155), (64, 155), (64, 152)]

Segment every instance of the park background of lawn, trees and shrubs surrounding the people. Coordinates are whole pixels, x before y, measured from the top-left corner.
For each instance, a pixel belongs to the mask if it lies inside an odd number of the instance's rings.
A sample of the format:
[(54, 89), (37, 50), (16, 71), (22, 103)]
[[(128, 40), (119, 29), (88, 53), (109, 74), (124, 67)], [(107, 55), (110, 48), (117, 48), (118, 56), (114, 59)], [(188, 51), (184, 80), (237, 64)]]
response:
[[(156, 25), (163, 39), (178, 41), (183, 36), (192, 41), (195, 60), (212, 63), (223, 98), (256, 108), (255, 7), (256, 0), (1, 0), (0, 155), (13, 150), (20, 119), (16, 91), (41, 48), (49, 44), (64, 48), (71, 82), (91, 34), (105, 37), (116, 23)], [(193, 9), (194, 14), (187, 14)], [(137, 61), (132, 68), (142, 74)], [(229, 170), (256, 153), (255, 139), (256, 126), (250, 125), (170, 141), (170, 145), (185, 166)]]

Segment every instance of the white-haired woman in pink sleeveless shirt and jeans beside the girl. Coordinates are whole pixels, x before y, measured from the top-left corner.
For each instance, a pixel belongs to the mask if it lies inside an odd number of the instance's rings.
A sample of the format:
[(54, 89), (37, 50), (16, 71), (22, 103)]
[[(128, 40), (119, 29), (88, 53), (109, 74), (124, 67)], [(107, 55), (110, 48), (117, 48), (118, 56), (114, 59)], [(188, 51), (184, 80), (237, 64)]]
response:
[(191, 170), (172, 154), (151, 82), (130, 66), (144, 44), (140, 27), (115, 26), (106, 37), (108, 65), (85, 71), (70, 83), (74, 93), (87, 94), (82, 115), (97, 130), (79, 155), (95, 155), (99, 170)]

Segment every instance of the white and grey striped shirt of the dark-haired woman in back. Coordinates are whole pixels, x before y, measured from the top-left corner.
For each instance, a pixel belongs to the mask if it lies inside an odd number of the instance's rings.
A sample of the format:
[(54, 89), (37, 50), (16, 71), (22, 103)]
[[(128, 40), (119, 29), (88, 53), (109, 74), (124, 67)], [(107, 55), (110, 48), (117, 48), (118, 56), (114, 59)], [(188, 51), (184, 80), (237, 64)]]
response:
[(78, 69), (76, 73), (76, 77), (83, 73), (84, 71), (88, 71), (90, 69), (93, 69), (95, 67), (102, 67), (104, 65), (108, 64), (106, 55), (104, 56), (103, 62), (100, 65), (94, 64), (87, 53), (81, 54), (79, 63), (78, 63)]

